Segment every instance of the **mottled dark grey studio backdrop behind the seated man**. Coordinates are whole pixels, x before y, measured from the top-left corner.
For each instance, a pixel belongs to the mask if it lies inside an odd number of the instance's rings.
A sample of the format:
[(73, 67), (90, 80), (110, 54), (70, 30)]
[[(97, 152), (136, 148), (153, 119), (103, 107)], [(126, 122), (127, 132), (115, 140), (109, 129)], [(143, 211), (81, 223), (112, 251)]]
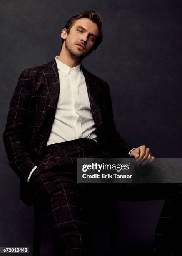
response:
[(1, 0), (0, 7), (0, 246), (31, 249), (33, 209), (19, 200), (2, 136), (18, 76), (59, 55), (60, 33), (72, 15), (97, 10), (104, 39), (83, 64), (110, 85), (117, 130), (156, 157), (182, 157), (182, 1)]

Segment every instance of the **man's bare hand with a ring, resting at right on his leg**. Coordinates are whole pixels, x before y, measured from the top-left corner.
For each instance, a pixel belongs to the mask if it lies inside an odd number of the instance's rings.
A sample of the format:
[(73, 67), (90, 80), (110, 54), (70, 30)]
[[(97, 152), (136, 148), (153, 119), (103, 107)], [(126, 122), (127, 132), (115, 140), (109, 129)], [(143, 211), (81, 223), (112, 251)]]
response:
[(137, 164), (141, 164), (142, 166), (147, 163), (152, 164), (154, 161), (154, 156), (151, 155), (150, 149), (146, 148), (145, 145), (133, 149), (130, 156), (135, 157), (137, 159)]

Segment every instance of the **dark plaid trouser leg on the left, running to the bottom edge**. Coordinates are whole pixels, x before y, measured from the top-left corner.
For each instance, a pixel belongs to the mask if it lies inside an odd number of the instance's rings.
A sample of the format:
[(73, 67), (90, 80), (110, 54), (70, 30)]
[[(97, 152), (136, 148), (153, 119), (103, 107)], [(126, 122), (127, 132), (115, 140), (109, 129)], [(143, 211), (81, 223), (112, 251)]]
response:
[(91, 255), (86, 189), (77, 184), (76, 165), (57, 166), (55, 159), (47, 156), (33, 177), (33, 187), (53, 232), (55, 255)]

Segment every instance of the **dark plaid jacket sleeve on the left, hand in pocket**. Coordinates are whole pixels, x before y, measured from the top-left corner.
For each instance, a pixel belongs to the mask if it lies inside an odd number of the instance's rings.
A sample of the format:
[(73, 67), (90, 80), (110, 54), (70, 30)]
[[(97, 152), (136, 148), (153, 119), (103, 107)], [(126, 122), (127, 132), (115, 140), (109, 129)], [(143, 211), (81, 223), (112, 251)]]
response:
[(26, 118), (31, 94), (29, 69), (21, 74), (10, 101), (3, 133), (5, 150), (11, 168), (20, 179), (28, 178), (36, 162), (30, 157), (26, 143)]

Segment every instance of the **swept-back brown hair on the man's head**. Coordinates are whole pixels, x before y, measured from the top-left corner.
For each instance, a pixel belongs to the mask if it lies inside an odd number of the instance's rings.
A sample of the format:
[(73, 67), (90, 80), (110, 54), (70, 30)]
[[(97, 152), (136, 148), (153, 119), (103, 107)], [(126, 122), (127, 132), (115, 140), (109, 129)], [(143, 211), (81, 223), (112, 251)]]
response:
[[(73, 16), (72, 18), (70, 18), (68, 20), (68, 22), (66, 23), (66, 25), (64, 26), (64, 28), (67, 29), (67, 33), (70, 33), (70, 29), (73, 26), (73, 24), (75, 23), (76, 20), (79, 20), (81, 18), (88, 18), (90, 20), (92, 20), (92, 22), (95, 22), (99, 28), (99, 35), (97, 36), (96, 40), (95, 40), (95, 44), (93, 46), (93, 50), (96, 50), (97, 47), (99, 46), (99, 44), (102, 42), (102, 16), (100, 15), (100, 13), (97, 13), (96, 11), (83, 11), (81, 13), (78, 13), (77, 15)], [(64, 39), (62, 39), (62, 45), (64, 43)], [(62, 47), (62, 46), (61, 46)]]

